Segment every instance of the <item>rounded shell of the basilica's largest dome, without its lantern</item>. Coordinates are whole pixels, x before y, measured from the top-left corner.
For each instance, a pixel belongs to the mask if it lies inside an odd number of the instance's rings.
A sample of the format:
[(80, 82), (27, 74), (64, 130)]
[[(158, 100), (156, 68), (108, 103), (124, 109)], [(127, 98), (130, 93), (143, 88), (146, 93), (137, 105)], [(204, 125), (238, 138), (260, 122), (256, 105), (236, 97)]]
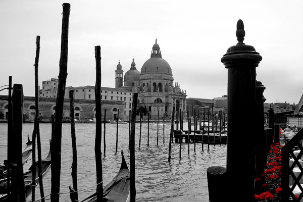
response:
[(166, 60), (162, 58), (150, 58), (148, 59), (141, 68), (141, 74), (145, 73), (164, 73), (172, 74), (172, 69)]

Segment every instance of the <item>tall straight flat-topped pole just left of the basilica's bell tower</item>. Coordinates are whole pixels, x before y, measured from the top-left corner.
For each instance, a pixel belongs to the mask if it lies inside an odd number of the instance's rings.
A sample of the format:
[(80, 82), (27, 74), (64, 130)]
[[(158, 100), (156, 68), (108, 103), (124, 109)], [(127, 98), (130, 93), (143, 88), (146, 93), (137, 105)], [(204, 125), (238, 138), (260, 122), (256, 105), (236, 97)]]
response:
[[(95, 83), (95, 102), (96, 102), (96, 135), (95, 135), (95, 159), (96, 159), (96, 181), (97, 181), (97, 201), (103, 201), (103, 171), (102, 171), (102, 118), (101, 118), (101, 47), (95, 46), (96, 60), (96, 83)], [(119, 115), (119, 110), (118, 110)]]

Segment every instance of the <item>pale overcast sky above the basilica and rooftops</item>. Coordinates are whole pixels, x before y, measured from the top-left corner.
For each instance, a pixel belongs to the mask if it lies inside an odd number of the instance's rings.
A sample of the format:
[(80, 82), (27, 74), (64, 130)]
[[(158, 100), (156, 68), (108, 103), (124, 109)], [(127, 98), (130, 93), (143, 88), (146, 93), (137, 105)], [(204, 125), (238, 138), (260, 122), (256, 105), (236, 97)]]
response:
[[(58, 77), (62, 4), (70, 3), (66, 86), (95, 84), (94, 46), (101, 46), (102, 86), (115, 87), (120, 60), (124, 73), (137, 70), (158, 39), (162, 58), (187, 97), (227, 94), (221, 58), (237, 43), (239, 19), (244, 43), (262, 56), (257, 80), (266, 103), (297, 104), (303, 94), (303, 1), (0, 1), (0, 86), (23, 84), (34, 96), (36, 36), (40, 39), (39, 85)], [(7, 90), (0, 94), (7, 94)]]

